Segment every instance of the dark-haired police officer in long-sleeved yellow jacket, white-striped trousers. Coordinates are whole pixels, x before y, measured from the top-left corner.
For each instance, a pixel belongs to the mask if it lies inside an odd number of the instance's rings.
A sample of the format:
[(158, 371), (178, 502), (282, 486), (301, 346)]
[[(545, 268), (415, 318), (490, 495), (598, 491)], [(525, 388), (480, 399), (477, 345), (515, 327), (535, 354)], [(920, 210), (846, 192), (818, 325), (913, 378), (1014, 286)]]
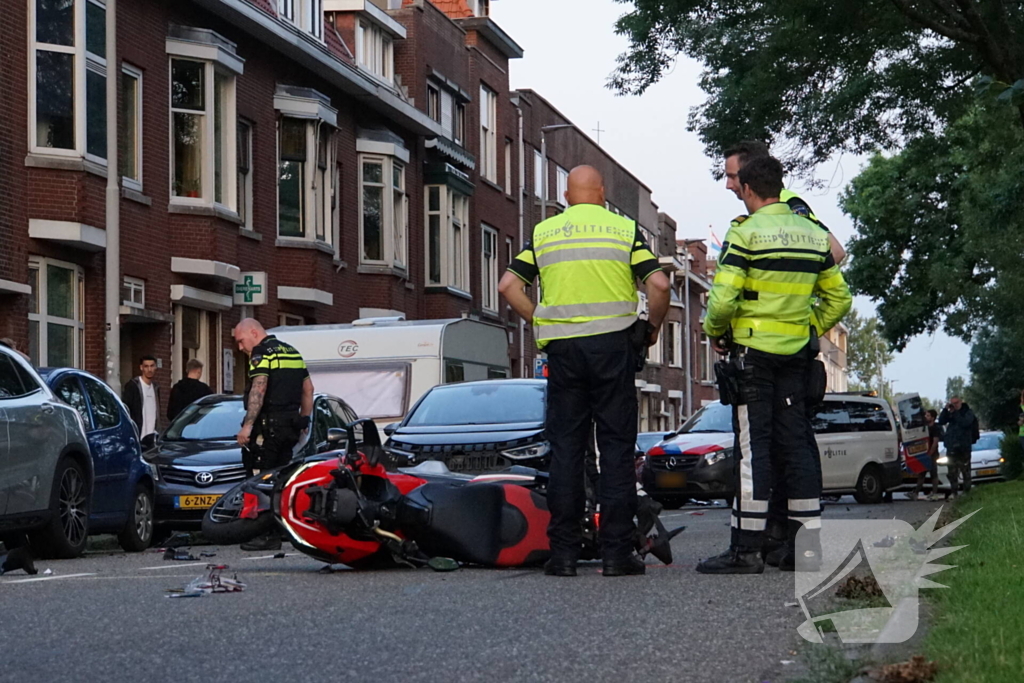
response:
[[(755, 157), (738, 171), (749, 217), (734, 221), (708, 300), (705, 333), (720, 353), (723, 401), (733, 405), (736, 498), (729, 549), (697, 565), (701, 573), (760, 573), (773, 463), (784, 472), (787, 556), (801, 568), (796, 537), (821, 524), (821, 478), (806, 402), (817, 338), (842, 319), (853, 298), (828, 233), (779, 201), (782, 165)], [(815, 559), (803, 562), (810, 568)]]

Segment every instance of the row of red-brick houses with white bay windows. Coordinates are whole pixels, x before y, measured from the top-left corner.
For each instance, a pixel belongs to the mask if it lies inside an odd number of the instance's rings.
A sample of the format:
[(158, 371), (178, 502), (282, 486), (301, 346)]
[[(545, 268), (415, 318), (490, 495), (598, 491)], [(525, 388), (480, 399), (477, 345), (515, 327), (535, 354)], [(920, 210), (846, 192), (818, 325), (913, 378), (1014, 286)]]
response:
[[(230, 335), (246, 315), (266, 327), (473, 315), (508, 331), (511, 374), (531, 374), (529, 330), (497, 285), (540, 217), (539, 128), (564, 120), (510, 92), (522, 50), (486, 2), (121, 2), (116, 55), (103, 0), (8, 9), (0, 336), (38, 365), (105, 374), (115, 78), (121, 382), (143, 353), (165, 387), (199, 357), (215, 390), (239, 391)], [(612, 207), (673, 257), (649, 188), (572, 132), (551, 137), (552, 168), (598, 166)], [(666, 408), (683, 382), (670, 366), (638, 387), (659, 429), (679, 416)]]

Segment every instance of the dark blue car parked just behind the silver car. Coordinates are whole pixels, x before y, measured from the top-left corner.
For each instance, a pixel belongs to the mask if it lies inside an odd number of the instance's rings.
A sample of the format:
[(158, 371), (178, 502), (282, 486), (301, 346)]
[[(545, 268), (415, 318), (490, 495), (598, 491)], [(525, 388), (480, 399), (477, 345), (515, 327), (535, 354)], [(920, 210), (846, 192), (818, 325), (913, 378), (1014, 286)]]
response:
[(43, 368), (39, 374), (85, 422), (93, 464), (89, 533), (117, 533), (125, 550), (144, 550), (153, 541), (156, 470), (142, 460), (138, 433), (124, 403), (85, 371)]

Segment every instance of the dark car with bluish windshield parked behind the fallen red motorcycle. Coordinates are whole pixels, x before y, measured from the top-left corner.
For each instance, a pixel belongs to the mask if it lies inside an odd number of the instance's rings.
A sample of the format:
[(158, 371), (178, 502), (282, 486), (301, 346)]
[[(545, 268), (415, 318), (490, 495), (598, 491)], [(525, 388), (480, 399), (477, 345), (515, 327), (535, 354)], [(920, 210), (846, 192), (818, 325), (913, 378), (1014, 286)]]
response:
[(547, 470), (547, 384), (499, 379), (432, 387), (400, 423), (384, 428), (384, 447), (410, 462), (441, 461), (453, 472)]

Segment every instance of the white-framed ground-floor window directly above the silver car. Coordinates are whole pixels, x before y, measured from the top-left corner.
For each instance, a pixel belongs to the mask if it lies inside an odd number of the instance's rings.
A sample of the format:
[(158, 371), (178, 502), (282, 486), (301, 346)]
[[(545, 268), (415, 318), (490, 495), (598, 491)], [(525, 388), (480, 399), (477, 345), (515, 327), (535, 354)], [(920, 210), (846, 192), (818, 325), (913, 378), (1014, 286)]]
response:
[(82, 268), (29, 259), (29, 356), (33, 365), (82, 368), (85, 355), (85, 278)]

